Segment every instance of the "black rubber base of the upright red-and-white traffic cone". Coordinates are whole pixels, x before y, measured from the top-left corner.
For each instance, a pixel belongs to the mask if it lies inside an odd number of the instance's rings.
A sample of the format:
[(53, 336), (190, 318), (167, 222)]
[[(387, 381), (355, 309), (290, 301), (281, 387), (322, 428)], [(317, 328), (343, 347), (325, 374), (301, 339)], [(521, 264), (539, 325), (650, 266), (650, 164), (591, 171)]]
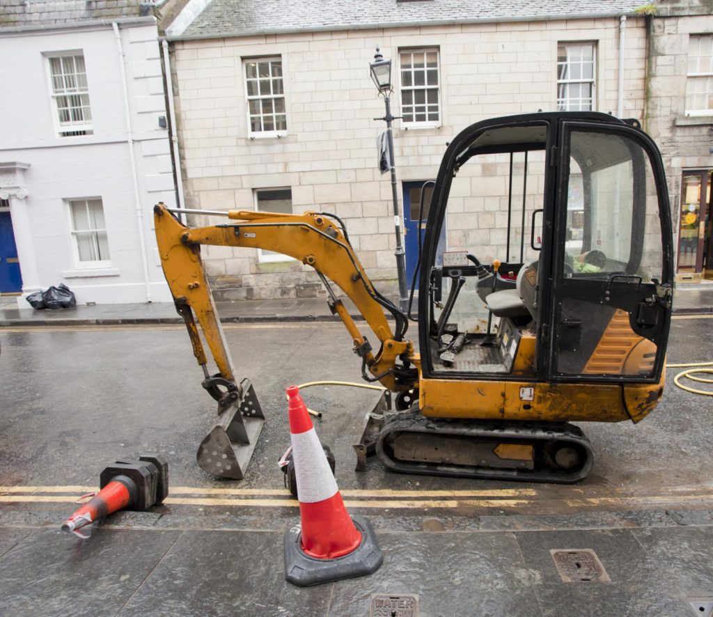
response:
[(299, 587), (319, 585), (343, 578), (354, 578), (376, 572), (384, 561), (371, 523), (363, 516), (352, 515), (356, 529), (361, 531), (361, 544), (348, 555), (337, 559), (315, 559), (302, 550), (299, 525), (284, 534), (284, 578)]

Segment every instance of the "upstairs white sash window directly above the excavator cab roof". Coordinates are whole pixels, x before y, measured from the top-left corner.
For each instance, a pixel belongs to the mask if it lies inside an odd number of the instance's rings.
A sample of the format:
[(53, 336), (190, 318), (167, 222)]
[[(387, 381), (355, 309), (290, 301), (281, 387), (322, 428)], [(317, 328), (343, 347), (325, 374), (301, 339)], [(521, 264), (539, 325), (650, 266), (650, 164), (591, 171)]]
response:
[(558, 111), (594, 109), (593, 43), (560, 44), (557, 47)]

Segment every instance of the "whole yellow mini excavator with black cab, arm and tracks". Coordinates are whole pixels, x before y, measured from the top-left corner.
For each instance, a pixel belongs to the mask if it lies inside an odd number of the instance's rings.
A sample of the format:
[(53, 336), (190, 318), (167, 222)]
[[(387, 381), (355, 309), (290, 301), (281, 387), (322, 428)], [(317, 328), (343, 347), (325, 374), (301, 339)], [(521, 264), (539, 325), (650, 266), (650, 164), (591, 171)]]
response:
[(242, 479), (264, 422), (232, 367), (204, 245), (271, 250), (317, 271), (364, 379), (394, 394), (393, 409), (368, 414), (361, 444), (393, 471), (580, 481), (593, 452), (570, 422), (639, 422), (656, 406), (672, 229), (660, 152), (637, 121), (562, 112), (478, 122), (451, 141), (426, 185), (409, 212), (419, 352), (406, 337), (411, 306), (406, 314), (376, 290), (334, 214), (195, 210), (227, 222), (188, 228), (176, 214), (190, 210), (155, 206), (166, 280), (218, 404), (202, 469)]

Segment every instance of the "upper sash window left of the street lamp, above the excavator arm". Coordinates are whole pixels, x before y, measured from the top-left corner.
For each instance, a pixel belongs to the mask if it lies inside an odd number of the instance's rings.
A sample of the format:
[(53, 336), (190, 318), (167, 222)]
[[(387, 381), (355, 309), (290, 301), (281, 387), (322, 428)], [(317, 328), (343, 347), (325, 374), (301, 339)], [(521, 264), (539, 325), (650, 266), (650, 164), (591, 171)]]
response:
[(245, 92), (250, 136), (276, 136), (287, 131), (282, 59), (245, 61)]

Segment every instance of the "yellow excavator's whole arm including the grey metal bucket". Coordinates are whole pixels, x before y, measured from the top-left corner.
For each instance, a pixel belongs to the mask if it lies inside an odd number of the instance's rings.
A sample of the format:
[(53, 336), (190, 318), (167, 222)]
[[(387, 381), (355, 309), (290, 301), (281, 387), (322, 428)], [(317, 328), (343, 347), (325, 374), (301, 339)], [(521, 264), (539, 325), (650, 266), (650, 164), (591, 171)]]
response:
[[(201, 210), (200, 214), (211, 213)], [(339, 219), (312, 212), (285, 215), (230, 210), (212, 214), (225, 216), (230, 223), (188, 228), (159, 203), (154, 208), (155, 230), (176, 310), (185, 320), (193, 354), (203, 369), (202, 385), (218, 402), (218, 421), (198, 450), (198, 463), (212, 474), (242, 479), (262, 428), (262, 411), (250, 382), (243, 379), (237, 383), (200, 258), (202, 245), (262, 248), (314, 267), (329, 292), (329, 307), (339, 315), (352, 337), (354, 353), (361, 358), (362, 375), (367, 381), (379, 381), (389, 390), (407, 391), (418, 378), (414, 366), (418, 358), (411, 341), (404, 338), (406, 317), (371, 284)], [(361, 334), (349, 310), (329, 285), (330, 280), (354, 302), (378, 341), (378, 349), (372, 348)], [(396, 332), (384, 310), (394, 315)], [(217, 365), (217, 374), (210, 374), (207, 368), (196, 321)]]

